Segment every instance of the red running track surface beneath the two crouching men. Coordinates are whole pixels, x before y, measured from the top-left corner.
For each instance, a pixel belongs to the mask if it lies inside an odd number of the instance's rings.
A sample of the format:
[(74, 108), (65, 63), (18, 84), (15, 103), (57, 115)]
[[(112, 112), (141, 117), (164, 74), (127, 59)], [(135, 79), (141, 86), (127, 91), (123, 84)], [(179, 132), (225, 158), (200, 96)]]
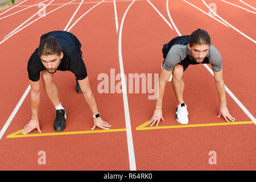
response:
[[(38, 2), (42, 1), (27, 1), (22, 6), (35, 5)], [(52, 4), (68, 2), (55, 0)], [(75, 1), (76, 4), (64, 6), (48, 14), (0, 44), (0, 129), (27, 89), (29, 84), (27, 61), (38, 47), (40, 36), (49, 31), (64, 30), (80, 2)], [(96, 5), (96, 2), (91, 2), (93, 3), (82, 4), (70, 26)], [(150, 2), (170, 22), (166, 1)], [(188, 2), (209, 12), (201, 1), (188, 0)], [(253, 23), (255, 14), (222, 1), (205, 2), (208, 5), (211, 2), (216, 3), (217, 14), (221, 18), (251, 39), (256, 39), (255, 23)], [(253, 1), (244, 2), (256, 6)], [(130, 3), (131, 1), (116, 2), (118, 32), (115, 27), (113, 2), (103, 2), (89, 11), (70, 31), (82, 43), (92, 92), (102, 118), (112, 125), (111, 129), (126, 128), (123, 96), (122, 93), (98, 93), (97, 86), (100, 80), (97, 80), (97, 76), (100, 73), (107, 73), (110, 77), (110, 69), (115, 69), (115, 75), (120, 72), (118, 38), (121, 20)], [(253, 11), (240, 1), (232, 1), (232, 3)], [(59, 6), (61, 5), (48, 6), (46, 13)], [(21, 9), (24, 7), (15, 7), (0, 18)], [(0, 19), (0, 38), (9, 34), (38, 10), (39, 8), (35, 6)], [(256, 58), (255, 43), (184, 1), (170, 1), (169, 10), (181, 35), (189, 35), (197, 28), (208, 31), (212, 43), (222, 56), (225, 85), (255, 116), (256, 82), (253, 67)], [(38, 17), (36, 15), (27, 23)], [(163, 61), (162, 46), (175, 36), (178, 36), (177, 32), (171, 30), (150, 3), (135, 1), (127, 11), (122, 28), (122, 60), (125, 74), (128, 76), (129, 73), (159, 73)], [(84, 97), (75, 92), (75, 76), (71, 72), (57, 72), (54, 80), (59, 89), (61, 103), (67, 110), (65, 132), (90, 130), (93, 125), (92, 114)], [(184, 74), (184, 82), (184, 99), (188, 105), (190, 125), (225, 122), (224, 118), (217, 118), (219, 100), (214, 78), (203, 65), (189, 66)], [(55, 108), (48, 100), (42, 84), (41, 90), (40, 128), (43, 133), (54, 133), (52, 126)], [(133, 135), (131, 142), (134, 146), (137, 170), (256, 169), (254, 124), (136, 130), (136, 127), (148, 121), (154, 112), (155, 100), (148, 100), (148, 95), (141, 92), (127, 93)], [(251, 121), (228, 93), (226, 100), (229, 111), (237, 122)], [(159, 126), (179, 125), (175, 119), (175, 110), (176, 98), (169, 83), (163, 100), (163, 117), (166, 121), (160, 122)], [(0, 140), (1, 170), (130, 170), (126, 131), (6, 138), (7, 135), (22, 129), (30, 121), (30, 117), (30, 94), (28, 94)], [(38, 133), (36, 130), (31, 132), (31, 134), (36, 133)], [(38, 164), (39, 151), (46, 152), (46, 165)], [(216, 165), (208, 163), (209, 151), (216, 151)]]

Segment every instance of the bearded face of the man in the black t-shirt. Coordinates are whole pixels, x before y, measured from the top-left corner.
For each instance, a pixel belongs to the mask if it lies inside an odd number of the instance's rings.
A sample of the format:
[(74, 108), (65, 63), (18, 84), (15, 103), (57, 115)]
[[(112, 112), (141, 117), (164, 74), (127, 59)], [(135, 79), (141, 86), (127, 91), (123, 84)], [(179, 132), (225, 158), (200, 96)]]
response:
[(63, 52), (61, 52), (60, 55), (42, 55), (40, 58), (47, 71), (49, 73), (55, 73), (63, 58)]

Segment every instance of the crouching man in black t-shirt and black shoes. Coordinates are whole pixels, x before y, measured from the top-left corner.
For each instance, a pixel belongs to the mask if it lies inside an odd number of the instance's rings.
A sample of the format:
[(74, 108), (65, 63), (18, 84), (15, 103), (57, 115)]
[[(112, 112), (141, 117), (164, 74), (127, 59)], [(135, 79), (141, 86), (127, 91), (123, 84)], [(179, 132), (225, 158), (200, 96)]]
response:
[(61, 105), (58, 89), (53, 82), (53, 73), (56, 71), (71, 71), (76, 77), (76, 92), (82, 93), (89, 105), (93, 116), (93, 127), (108, 130), (110, 125), (102, 120), (98, 113), (96, 101), (90, 89), (89, 78), (82, 60), (81, 43), (75, 35), (67, 31), (52, 31), (40, 38), (39, 47), (32, 53), (27, 64), (28, 78), (31, 86), (31, 111), (30, 122), (25, 126), (22, 134), (28, 134), (39, 127), (38, 109), (40, 102), (40, 72), (44, 90), (56, 109), (56, 119), (53, 123), (55, 131), (65, 129), (67, 113)]

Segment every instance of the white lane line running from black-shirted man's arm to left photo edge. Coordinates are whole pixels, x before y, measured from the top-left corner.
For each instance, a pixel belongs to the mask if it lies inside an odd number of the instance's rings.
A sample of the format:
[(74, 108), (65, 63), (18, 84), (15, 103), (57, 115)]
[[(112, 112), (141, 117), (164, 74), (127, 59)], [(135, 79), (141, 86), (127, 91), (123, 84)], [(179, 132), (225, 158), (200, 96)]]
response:
[(30, 85), (28, 85), (26, 91), (23, 93), (23, 96), (20, 98), (18, 104), (16, 105), (16, 107), (13, 110), (13, 113), (11, 113), (10, 117), (7, 119), (5, 125), (3, 126), (2, 130), (0, 131), (0, 140), (3, 137), (3, 134), (5, 134), (5, 131), (7, 130), (7, 128), (9, 127), (11, 121), (13, 121), (13, 118), (15, 117), (16, 113), (19, 110), (19, 107), (22, 105), (22, 102), (25, 100), (25, 98), (27, 97), (28, 92), (30, 92)]

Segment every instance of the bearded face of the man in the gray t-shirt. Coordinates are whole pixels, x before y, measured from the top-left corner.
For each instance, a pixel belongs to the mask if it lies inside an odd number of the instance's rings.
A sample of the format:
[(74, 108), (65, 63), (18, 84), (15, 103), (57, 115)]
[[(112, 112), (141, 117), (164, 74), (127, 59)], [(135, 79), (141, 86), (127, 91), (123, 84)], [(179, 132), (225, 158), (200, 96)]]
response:
[(207, 56), (210, 45), (198, 45), (194, 44), (192, 47), (188, 44), (189, 55), (192, 59), (195, 59), (197, 63), (202, 63), (204, 58)]

